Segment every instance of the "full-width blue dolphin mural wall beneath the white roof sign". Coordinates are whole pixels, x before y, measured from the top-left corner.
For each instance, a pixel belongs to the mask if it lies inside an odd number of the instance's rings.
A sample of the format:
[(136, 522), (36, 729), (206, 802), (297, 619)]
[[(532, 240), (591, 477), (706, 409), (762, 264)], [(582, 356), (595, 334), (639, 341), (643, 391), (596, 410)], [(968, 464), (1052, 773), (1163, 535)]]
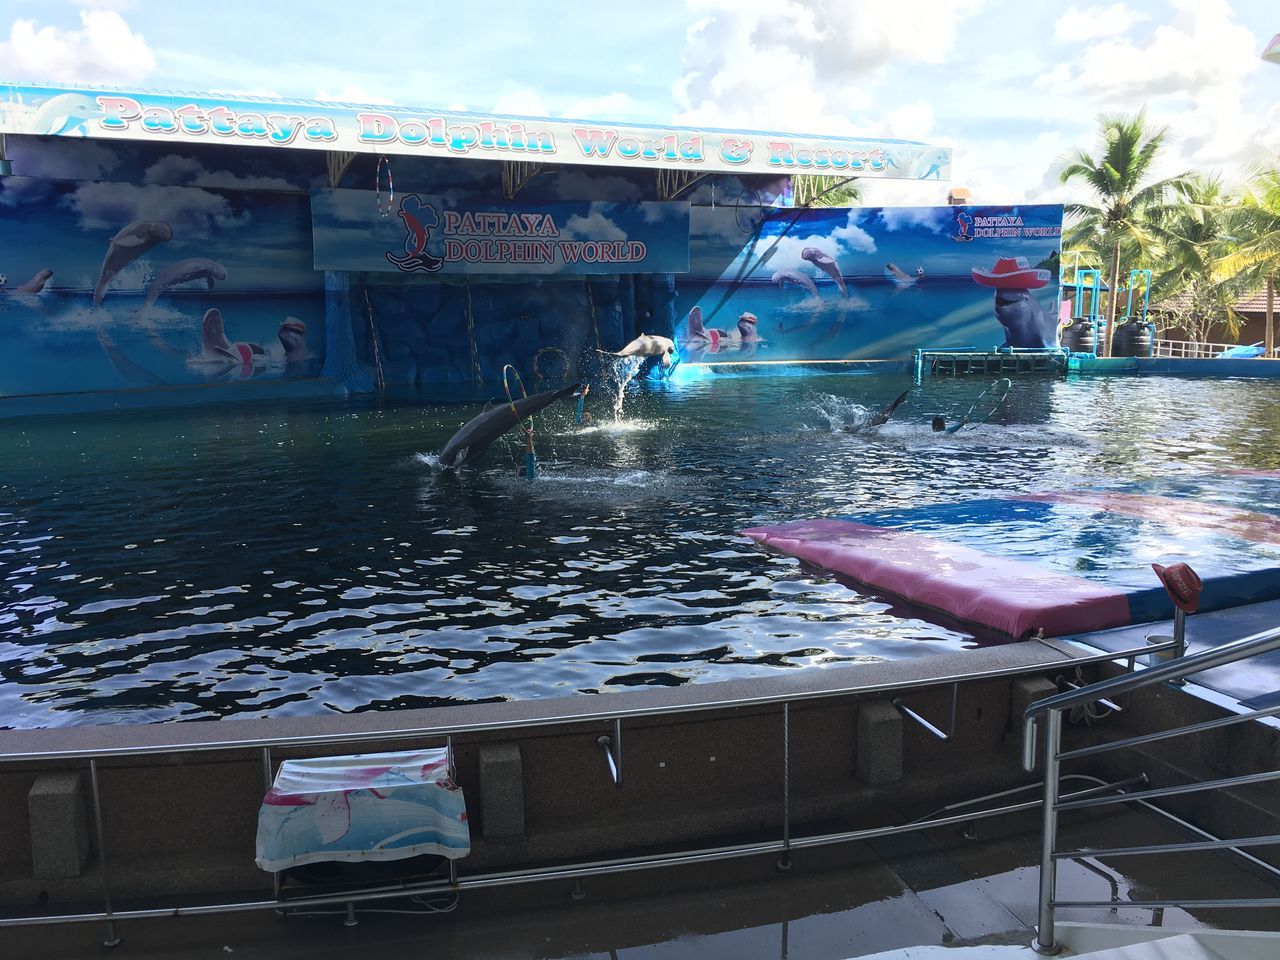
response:
[[(504, 204), (495, 164), (397, 159), (393, 209), (374, 157), (332, 192), (323, 160), (301, 151), (14, 137), (9, 154), (0, 396), (316, 376), (367, 388), (379, 374), (494, 383), (506, 364), (532, 380), (590, 378), (598, 349), (641, 332), (705, 362), (1056, 343), (1060, 206), (799, 210), (778, 177), (717, 177), (659, 204), (652, 174), (581, 168), (534, 177)], [(372, 260), (315, 242), (314, 196), (375, 225)], [(428, 206), (438, 223), (422, 229)], [(430, 269), (451, 238), (481, 261), (526, 242), (497, 236), (516, 223), (504, 215), (554, 224), (558, 237), (536, 238), (556, 247), (540, 273)], [(618, 259), (570, 264), (566, 242)], [(645, 256), (628, 261), (637, 243)]]

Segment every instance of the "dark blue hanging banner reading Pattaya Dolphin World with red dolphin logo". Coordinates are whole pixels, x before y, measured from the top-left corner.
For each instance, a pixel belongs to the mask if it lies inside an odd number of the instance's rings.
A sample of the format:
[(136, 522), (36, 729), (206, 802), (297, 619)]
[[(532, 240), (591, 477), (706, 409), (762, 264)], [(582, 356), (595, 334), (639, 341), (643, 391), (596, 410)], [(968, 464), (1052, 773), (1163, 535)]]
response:
[(689, 270), (689, 204), (495, 204), (312, 189), (316, 270), (431, 274), (675, 274)]

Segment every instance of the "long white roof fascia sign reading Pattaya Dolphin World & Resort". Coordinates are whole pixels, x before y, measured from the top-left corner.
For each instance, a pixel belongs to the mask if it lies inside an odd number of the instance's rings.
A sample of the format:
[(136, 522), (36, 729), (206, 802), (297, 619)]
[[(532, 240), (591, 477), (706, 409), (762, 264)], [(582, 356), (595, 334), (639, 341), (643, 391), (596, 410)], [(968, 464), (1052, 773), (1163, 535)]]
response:
[(950, 147), (902, 140), (26, 83), (0, 83), (0, 133), (684, 173), (951, 177)]

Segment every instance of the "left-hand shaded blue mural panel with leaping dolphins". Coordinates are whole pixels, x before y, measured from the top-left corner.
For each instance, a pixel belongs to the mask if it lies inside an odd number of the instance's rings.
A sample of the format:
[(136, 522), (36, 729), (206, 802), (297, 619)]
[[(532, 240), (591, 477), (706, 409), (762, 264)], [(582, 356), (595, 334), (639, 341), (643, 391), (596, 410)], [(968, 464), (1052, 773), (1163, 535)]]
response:
[(323, 361), (305, 195), (5, 177), (0, 275), (0, 396), (300, 379)]

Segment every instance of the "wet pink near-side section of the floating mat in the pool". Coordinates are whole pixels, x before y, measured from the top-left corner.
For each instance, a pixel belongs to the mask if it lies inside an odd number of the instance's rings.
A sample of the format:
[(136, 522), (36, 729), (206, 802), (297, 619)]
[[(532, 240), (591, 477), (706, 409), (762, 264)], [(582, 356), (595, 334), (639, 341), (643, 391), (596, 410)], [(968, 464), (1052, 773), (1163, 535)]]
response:
[(1106, 584), (923, 534), (849, 520), (801, 520), (742, 532), (877, 593), (1014, 637), (1037, 628), (1062, 636), (1132, 622), (1128, 596)]

